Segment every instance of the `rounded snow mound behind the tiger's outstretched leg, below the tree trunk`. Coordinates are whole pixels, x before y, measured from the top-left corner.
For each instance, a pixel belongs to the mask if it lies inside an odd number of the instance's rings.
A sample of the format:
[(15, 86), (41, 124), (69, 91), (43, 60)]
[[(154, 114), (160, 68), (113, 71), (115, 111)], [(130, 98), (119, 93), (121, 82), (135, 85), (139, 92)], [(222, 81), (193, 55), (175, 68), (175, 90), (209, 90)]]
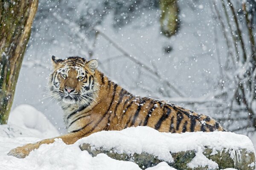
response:
[(58, 130), (49, 122), (46, 116), (31, 105), (19, 105), (11, 111), (8, 125), (29, 130), (32, 133), (30, 136), (38, 138), (59, 136)]

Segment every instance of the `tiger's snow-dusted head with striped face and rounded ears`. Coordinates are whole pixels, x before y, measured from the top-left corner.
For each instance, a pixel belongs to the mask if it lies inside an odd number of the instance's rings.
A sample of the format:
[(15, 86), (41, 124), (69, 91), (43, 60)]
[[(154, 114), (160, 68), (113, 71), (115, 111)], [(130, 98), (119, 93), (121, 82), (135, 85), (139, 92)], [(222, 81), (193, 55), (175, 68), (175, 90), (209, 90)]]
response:
[(89, 106), (97, 95), (96, 59), (81, 57), (56, 59), (52, 56), (54, 71), (49, 77), (49, 91), (62, 105)]

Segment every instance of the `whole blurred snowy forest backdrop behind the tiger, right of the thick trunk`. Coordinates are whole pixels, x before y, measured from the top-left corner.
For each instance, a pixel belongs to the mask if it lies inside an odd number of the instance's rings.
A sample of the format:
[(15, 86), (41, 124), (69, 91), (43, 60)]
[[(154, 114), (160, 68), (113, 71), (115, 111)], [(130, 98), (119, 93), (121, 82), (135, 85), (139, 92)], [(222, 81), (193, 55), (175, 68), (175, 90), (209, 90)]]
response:
[(12, 107), (33, 105), (64, 133), (61, 108), (44, 97), (50, 57), (81, 56), (133, 94), (251, 136), (255, 9), (254, 0), (40, 0)]

